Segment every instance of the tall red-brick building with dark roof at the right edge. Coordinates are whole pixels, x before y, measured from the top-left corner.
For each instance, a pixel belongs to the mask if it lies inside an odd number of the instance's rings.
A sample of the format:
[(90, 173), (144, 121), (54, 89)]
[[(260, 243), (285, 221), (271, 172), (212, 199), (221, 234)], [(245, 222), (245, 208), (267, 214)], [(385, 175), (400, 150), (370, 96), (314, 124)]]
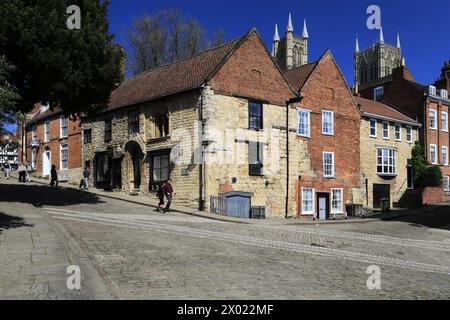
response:
[(406, 66), (400, 66), (393, 70), (392, 75), (366, 84), (359, 91), (362, 97), (394, 105), (422, 124), (419, 141), (426, 150), (429, 164), (439, 165), (444, 176), (441, 194), (436, 201), (450, 199), (449, 74), (447, 63), (436, 84), (425, 86), (414, 80)]

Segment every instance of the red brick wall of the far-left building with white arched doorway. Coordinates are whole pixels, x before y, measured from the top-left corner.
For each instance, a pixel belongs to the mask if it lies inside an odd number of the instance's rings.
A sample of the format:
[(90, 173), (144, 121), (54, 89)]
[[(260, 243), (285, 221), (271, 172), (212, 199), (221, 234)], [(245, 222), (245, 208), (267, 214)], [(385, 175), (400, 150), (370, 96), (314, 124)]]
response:
[[(44, 123), (45, 121), (50, 121), (50, 141), (44, 143)], [(69, 163), (68, 169), (76, 169), (82, 167), (81, 159), (81, 124), (79, 119), (69, 120), (68, 137), (60, 139), (60, 116), (52, 116), (49, 119), (40, 121), (34, 125), (30, 125), (27, 128), (27, 161), (31, 163), (31, 147), (29, 146), (32, 139), (32, 128), (36, 126), (37, 139), (40, 140), (40, 146), (36, 149), (37, 161), (36, 161), (36, 172), (38, 175), (42, 174), (42, 159), (43, 153), (46, 150), (51, 152), (51, 162), (52, 165), (56, 166), (56, 169), (60, 169), (60, 146), (62, 144), (67, 144), (69, 148)]]

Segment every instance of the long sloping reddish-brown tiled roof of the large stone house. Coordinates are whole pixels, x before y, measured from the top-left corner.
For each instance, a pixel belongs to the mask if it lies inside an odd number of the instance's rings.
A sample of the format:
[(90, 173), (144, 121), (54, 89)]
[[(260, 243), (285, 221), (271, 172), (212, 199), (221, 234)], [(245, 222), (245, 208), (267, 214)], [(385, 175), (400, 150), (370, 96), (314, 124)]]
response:
[(107, 110), (200, 88), (247, 35), (125, 80), (111, 94)]

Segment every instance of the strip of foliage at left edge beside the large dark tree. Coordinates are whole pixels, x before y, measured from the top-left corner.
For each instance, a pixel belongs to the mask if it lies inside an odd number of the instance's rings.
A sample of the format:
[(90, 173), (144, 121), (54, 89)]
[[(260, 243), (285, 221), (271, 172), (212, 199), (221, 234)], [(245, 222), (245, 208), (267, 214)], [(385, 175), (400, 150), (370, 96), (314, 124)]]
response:
[(15, 67), (6, 57), (0, 56), (0, 133), (6, 132), (5, 124), (14, 123), (14, 108), (20, 100), (16, 88), (11, 84), (11, 73)]

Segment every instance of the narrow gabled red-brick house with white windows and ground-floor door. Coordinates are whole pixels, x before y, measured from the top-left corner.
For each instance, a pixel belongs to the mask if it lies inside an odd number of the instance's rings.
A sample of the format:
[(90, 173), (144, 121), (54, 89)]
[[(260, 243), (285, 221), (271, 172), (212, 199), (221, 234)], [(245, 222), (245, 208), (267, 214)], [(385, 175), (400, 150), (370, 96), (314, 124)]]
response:
[[(296, 113), (291, 149), (302, 169), (296, 180), (297, 212), (319, 219), (346, 215), (346, 205), (362, 205), (360, 179), (360, 112), (332, 54), (292, 69), (286, 79), (302, 101)], [(299, 154), (299, 152), (301, 152)]]

